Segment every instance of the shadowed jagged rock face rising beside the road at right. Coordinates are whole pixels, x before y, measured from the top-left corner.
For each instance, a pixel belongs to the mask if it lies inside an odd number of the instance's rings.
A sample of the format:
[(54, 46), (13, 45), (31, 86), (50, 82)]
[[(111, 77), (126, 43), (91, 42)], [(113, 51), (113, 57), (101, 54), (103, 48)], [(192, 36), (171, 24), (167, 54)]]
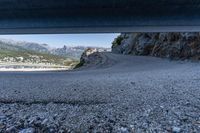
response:
[(124, 33), (112, 52), (200, 60), (200, 33)]

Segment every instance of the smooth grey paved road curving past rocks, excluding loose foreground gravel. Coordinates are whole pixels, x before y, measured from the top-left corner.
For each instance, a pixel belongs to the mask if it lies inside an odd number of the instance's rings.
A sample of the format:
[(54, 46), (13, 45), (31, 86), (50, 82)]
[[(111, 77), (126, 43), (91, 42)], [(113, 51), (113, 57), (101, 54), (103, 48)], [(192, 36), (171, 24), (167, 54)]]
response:
[[(102, 54), (100, 65), (68, 72), (1, 72), (1, 102), (97, 104), (200, 101), (200, 64)], [(103, 66), (103, 67), (102, 67)], [(166, 101), (167, 99), (167, 101)]]

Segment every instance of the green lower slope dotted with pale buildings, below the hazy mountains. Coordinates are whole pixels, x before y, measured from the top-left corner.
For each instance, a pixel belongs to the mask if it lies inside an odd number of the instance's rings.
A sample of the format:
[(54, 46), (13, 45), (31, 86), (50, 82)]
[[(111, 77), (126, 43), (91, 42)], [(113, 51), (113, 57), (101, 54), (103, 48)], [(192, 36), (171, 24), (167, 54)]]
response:
[(32, 48), (35, 50), (28, 50), (27, 47), (21, 45), (0, 41), (0, 68), (69, 69), (78, 63), (78, 60), (51, 54), (39, 47), (40, 50), (36, 47)]

